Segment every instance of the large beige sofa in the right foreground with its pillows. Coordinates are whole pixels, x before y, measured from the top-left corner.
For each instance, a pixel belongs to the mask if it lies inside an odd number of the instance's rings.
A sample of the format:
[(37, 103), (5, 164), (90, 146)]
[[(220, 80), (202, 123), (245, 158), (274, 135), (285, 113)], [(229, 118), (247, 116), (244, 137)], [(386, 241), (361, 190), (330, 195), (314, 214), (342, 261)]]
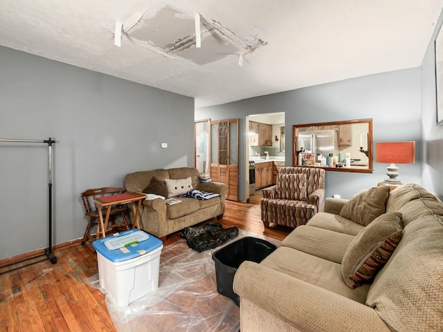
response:
[[(242, 332), (443, 331), (442, 201), (419, 185), (402, 185), (387, 194), (384, 211), (371, 221), (377, 206), (368, 192), (350, 201), (326, 199), (325, 212), (293, 230), (264, 261), (239, 266), (233, 287)], [(366, 220), (362, 225), (357, 218)], [(366, 236), (389, 228), (401, 239), (388, 236), (392, 243), (383, 241), (371, 255), (381, 242), (372, 246), (349, 269), (354, 252), (374, 240)], [(368, 240), (364, 246), (362, 239)], [(383, 246), (392, 246), (392, 256), (374, 279), (354, 288), (355, 279), (345, 273), (364, 275), (382, 260), (376, 253)]]

